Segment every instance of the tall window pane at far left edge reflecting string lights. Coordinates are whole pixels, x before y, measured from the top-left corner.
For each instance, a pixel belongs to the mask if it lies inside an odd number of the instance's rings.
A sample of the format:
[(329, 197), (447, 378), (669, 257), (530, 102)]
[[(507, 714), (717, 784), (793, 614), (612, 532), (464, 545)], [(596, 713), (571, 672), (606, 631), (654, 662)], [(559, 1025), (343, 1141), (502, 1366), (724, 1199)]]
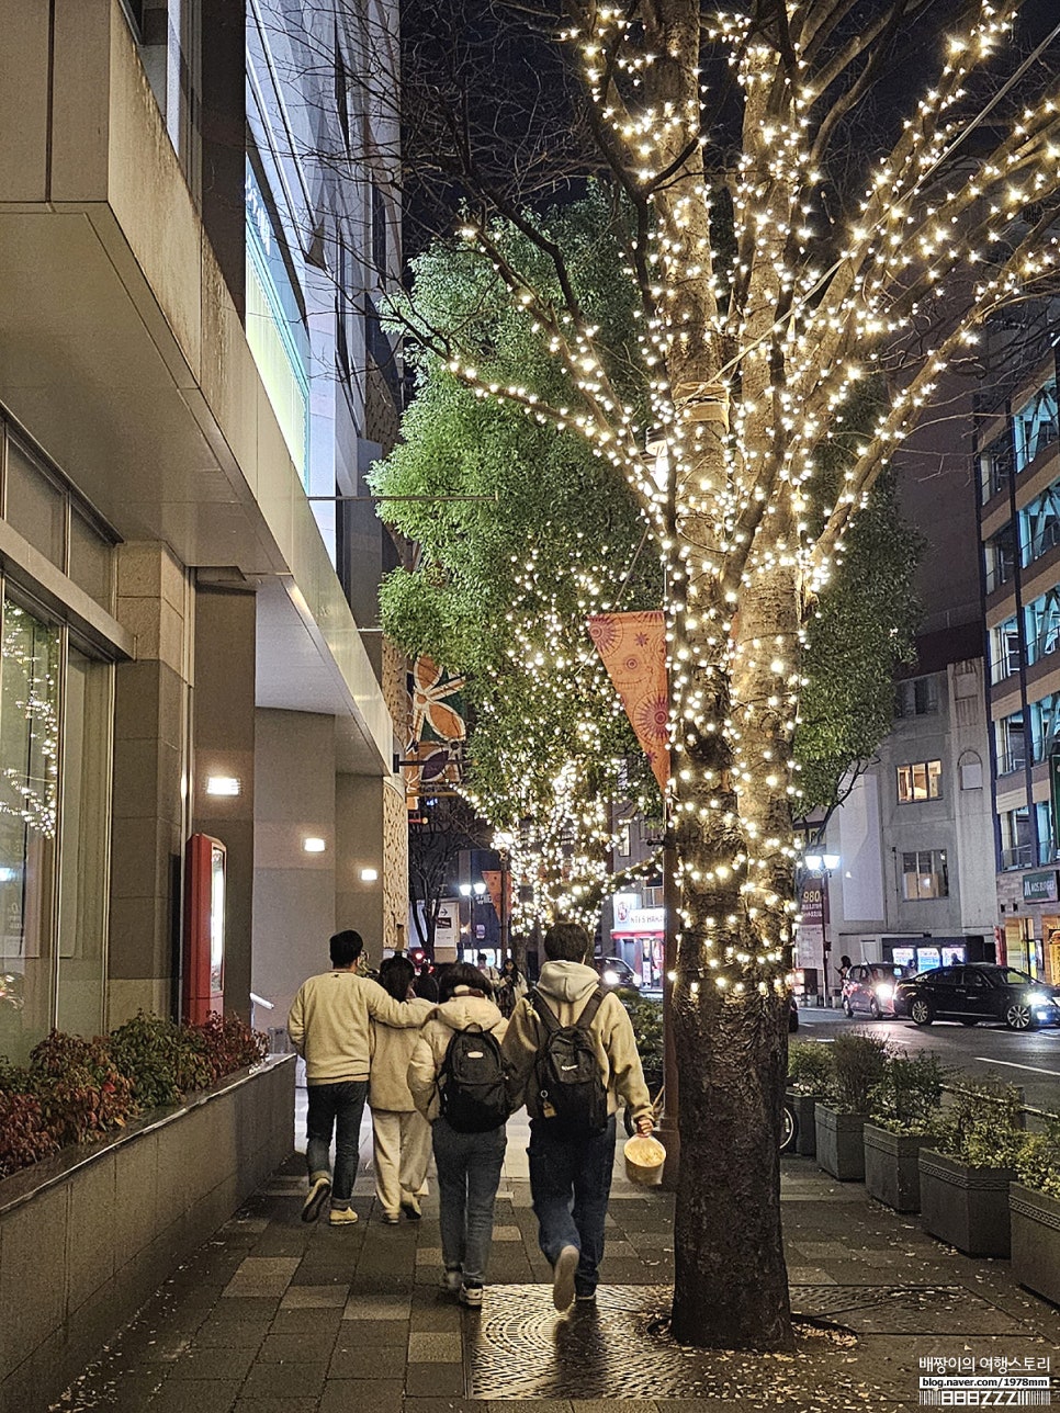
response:
[(0, 640), (0, 1053), (21, 1063), (52, 1024), (59, 632), (10, 599)]

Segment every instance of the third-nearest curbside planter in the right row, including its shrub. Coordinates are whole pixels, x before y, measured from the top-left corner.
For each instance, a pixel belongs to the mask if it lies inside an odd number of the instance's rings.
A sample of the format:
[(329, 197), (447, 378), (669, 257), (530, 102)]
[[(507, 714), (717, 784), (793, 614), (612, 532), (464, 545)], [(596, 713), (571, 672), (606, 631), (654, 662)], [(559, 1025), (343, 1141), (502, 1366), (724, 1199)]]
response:
[(869, 1096), (865, 1187), (896, 1212), (920, 1211), (919, 1153), (934, 1139), (944, 1077), (937, 1056), (895, 1057)]

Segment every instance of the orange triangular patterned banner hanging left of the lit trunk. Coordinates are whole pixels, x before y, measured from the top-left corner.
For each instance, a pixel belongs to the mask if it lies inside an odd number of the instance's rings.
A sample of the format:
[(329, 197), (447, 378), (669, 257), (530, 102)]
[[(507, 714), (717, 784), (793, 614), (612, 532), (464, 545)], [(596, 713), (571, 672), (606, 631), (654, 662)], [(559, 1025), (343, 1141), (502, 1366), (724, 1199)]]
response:
[(660, 610), (595, 613), (589, 637), (596, 646), (629, 723), (666, 794), (670, 776), (670, 694), (666, 682), (666, 623)]

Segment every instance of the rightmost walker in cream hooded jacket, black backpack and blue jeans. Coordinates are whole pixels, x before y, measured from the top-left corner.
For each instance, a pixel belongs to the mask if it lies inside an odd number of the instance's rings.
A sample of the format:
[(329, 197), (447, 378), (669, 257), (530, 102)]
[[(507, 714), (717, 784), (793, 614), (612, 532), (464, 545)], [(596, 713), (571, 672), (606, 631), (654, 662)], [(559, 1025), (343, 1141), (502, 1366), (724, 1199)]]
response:
[(509, 1104), (530, 1113), (530, 1194), (553, 1304), (596, 1299), (615, 1163), (615, 1115), (653, 1128), (652, 1096), (629, 1013), (585, 965), (589, 934), (557, 923), (537, 986), (516, 1005), (503, 1043)]

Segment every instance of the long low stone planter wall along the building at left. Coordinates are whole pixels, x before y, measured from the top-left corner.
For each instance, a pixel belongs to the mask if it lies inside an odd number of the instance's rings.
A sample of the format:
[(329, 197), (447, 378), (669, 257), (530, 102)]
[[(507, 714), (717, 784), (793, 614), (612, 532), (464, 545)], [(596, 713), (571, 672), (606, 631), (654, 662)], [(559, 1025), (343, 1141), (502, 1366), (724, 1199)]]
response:
[(47, 1407), (294, 1150), (294, 1056), (0, 1181), (0, 1409)]

